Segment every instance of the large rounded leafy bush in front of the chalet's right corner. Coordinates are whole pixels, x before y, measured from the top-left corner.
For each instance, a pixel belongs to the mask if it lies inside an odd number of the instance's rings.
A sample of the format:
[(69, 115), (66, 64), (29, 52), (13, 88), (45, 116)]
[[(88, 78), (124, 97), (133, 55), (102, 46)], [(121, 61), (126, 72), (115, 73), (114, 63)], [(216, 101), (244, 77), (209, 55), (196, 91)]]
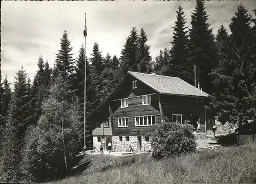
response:
[(165, 118), (151, 133), (154, 158), (163, 158), (195, 151), (197, 148), (193, 126), (170, 122)]

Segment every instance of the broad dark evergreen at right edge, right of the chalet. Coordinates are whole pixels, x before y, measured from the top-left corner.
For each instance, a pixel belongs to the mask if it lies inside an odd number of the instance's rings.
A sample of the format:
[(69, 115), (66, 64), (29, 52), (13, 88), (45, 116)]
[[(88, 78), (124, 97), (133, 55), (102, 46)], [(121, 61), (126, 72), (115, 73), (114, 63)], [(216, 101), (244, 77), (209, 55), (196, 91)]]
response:
[(224, 49), (219, 49), (219, 66), (211, 73), (218, 91), (210, 106), (218, 112), (219, 121), (237, 123), (240, 120), (239, 126), (242, 119), (248, 118), (248, 112), (256, 104), (256, 65), (250, 54), (250, 40), (253, 36), (248, 27), (251, 21), (249, 17), (247, 10), (240, 4), (229, 25), (230, 40), (225, 43), (224, 39), (222, 42)]

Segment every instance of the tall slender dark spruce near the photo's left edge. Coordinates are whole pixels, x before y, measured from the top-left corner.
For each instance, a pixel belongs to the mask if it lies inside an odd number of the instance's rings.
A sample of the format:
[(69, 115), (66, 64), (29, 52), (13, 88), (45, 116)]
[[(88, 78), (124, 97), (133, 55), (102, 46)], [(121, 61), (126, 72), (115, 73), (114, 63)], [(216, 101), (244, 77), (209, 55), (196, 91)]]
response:
[(28, 106), (29, 86), (27, 73), (19, 70), (16, 73), (14, 91), (10, 101), (8, 119), (4, 131), (3, 143), (3, 171), (2, 177), (5, 182), (17, 182), (20, 180), (19, 162), (20, 151), (24, 145), (26, 128), (29, 125)]

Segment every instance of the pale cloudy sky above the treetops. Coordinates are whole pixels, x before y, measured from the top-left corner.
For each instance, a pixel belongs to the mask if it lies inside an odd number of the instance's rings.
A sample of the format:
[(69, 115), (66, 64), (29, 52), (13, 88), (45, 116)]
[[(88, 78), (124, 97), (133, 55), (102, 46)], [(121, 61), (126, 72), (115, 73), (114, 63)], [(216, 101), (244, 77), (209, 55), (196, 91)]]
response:
[[(231, 17), (241, 1), (207, 1), (214, 34), (223, 24), (228, 32)], [(102, 55), (120, 55), (132, 27), (144, 28), (154, 58), (164, 48), (171, 48), (176, 11), (183, 7), (190, 26), (191, 12), (196, 1), (2, 1), (1, 9), (1, 75), (9, 82), (23, 65), (33, 80), (37, 60), (41, 55), (54, 65), (60, 49), (60, 38), (67, 30), (74, 57), (84, 44), (84, 13), (87, 13), (88, 36), (86, 52), (90, 57), (95, 41)], [(245, 0), (243, 5), (251, 13), (256, 1)], [(12, 85), (13, 86), (13, 85)]]

